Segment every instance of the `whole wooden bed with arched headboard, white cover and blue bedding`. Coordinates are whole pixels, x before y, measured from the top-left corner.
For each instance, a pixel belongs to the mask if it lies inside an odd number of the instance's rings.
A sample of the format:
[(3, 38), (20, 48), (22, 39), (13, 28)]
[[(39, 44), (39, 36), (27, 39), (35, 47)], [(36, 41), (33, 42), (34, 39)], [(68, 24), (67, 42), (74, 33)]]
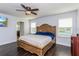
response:
[(23, 48), (24, 50), (27, 50), (31, 53), (35, 53), (39, 56), (43, 56), (47, 50), (49, 50), (55, 43), (56, 38), (52, 38), (47, 35), (40, 35), (42, 34), (50, 34), (50, 33), (56, 33), (56, 27), (50, 26), (48, 24), (43, 24), (41, 26), (37, 27), (37, 33), (34, 35), (25, 35), (21, 36), (17, 40), (18, 47)]

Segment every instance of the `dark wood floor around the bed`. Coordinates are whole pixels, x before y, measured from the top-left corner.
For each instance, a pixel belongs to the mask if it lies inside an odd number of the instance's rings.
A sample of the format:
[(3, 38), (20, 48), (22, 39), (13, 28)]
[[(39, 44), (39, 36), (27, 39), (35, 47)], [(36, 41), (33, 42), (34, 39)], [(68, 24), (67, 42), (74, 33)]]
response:
[[(70, 47), (56, 45), (51, 47), (45, 54), (45, 56), (71, 56)], [(16, 42), (0, 46), (0, 56), (37, 56), (31, 54), (22, 48), (17, 48)]]

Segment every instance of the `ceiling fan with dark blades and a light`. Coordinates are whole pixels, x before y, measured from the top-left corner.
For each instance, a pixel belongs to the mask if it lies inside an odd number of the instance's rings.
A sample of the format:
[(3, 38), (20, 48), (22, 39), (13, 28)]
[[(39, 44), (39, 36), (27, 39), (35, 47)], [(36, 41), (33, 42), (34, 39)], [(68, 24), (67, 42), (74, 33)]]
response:
[(30, 15), (30, 14), (37, 15), (37, 13), (35, 13), (35, 11), (39, 11), (38, 8), (32, 9), (31, 7), (25, 6), (23, 4), (21, 4), (21, 6), (24, 8), (24, 10), (16, 9), (16, 11), (23, 11), (23, 12), (25, 12), (25, 15)]

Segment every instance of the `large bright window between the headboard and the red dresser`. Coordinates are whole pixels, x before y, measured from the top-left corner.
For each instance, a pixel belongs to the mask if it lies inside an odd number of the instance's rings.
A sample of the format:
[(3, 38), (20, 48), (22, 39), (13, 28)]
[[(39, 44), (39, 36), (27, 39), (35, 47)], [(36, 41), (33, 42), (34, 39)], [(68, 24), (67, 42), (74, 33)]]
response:
[(72, 18), (59, 19), (58, 36), (69, 37), (72, 34)]

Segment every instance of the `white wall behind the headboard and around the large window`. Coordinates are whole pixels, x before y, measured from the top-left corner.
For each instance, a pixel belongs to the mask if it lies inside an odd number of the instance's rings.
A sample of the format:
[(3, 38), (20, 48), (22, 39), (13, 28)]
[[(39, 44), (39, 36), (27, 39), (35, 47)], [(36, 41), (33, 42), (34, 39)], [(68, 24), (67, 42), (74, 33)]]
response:
[[(50, 24), (52, 26), (56, 26), (56, 32), (58, 31), (58, 18), (62, 18), (62, 17), (69, 17), (72, 16), (73, 17), (73, 35), (76, 34), (77, 31), (77, 27), (76, 27), (76, 12), (67, 12), (67, 13), (62, 13), (62, 14), (58, 14), (58, 15), (51, 15), (51, 16), (46, 16), (46, 17), (41, 17), (41, 18), (37, 18), (35, 20), (32, 20), (31, 22), (36, 22), (37, 26), (40, 26), (41, 24), (47, 23)], [(57, 34), (56, 34), (57, 36)], [(61, 44), (61, 45), (66, 45), (66, 46), (70, 46), (71, 45), (71, 40), (70, 37), (56, 37), (56, 43), (57, 44)]]

